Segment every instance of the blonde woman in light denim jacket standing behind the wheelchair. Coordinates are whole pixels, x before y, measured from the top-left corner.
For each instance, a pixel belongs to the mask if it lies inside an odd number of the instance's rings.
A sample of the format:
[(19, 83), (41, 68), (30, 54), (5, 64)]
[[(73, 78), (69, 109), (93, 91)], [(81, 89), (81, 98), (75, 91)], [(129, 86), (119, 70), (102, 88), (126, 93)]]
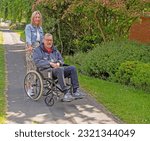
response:
[(33, 49), (39, 47), (43, 40), (42, 15), (40, 11), (34, 11), (31, 16), (31, 23), (25, 27), (26, 36), (26, 63), (27, 72), (34, 70), (35, 65), (32, 60)]

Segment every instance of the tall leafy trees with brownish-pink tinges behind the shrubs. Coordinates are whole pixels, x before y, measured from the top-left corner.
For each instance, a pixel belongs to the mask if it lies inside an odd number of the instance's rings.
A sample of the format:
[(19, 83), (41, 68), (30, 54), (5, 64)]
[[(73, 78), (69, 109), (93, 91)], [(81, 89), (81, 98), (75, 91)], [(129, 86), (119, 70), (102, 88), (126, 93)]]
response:
[[(118, 8), (111, 6), (116, 2), (109, 6), (88, 0), (43, 1), (46, 3), (36, 5), (43, 14), (43, 27), (53, 33), (58, 48), (65, 54), (88, 52), (102, 42), (120, 36), (127, 38), (130, 26), (143, 10), (139, 0), (125, 1)], [(133, 14), (136, 12), (138, 16)]]

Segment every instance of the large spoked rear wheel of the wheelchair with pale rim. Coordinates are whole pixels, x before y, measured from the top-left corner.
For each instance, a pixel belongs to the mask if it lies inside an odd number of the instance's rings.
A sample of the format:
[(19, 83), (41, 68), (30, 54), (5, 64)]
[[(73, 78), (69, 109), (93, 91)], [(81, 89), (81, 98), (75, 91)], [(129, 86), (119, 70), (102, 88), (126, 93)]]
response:
[[(30, 86), (29, 86), (30, 85)], [(29, 94), (29, 87), (32, 87), (32, 95)], [(32, 100), (38, 100), (43, 93), (43, 81), (40, 74), (34, 70), (29, 71), (24, 78), (24, 90)]]

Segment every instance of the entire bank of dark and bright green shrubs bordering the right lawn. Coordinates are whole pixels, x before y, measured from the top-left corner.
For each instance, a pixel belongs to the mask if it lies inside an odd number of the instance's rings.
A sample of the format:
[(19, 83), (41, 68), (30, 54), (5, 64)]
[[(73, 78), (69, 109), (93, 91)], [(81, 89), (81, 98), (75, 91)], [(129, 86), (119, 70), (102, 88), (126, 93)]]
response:
[(77, 53), (70, 61), (82, 74), (149, 92), (149, 56), (149, 46), (118, 39), (97, 46), (89, 53)]

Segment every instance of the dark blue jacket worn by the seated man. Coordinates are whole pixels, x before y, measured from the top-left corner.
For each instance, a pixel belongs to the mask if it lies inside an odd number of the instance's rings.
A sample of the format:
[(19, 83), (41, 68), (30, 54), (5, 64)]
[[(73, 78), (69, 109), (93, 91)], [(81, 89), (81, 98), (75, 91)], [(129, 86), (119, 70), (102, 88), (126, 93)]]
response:
[(38, 68), (49, 68), (50, 62), (64, 64), (63, 58), (56, 47), (53, 46), (52, 52), (49, 54), (44, 50), (44, 44), (41, 44), (33, 51), (33, 61)]

